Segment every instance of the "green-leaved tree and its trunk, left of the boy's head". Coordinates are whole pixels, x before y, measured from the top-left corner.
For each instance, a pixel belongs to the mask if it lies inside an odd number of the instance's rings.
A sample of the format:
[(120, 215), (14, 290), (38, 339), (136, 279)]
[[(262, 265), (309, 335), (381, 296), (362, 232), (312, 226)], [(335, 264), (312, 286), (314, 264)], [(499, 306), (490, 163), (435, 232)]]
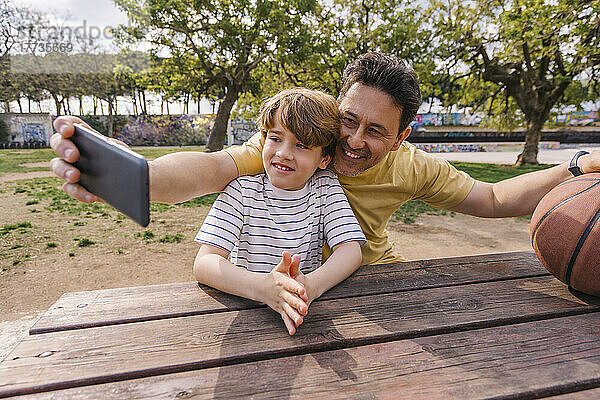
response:
[[(116, 0), (132, 21), (117, 37), (143, 39), (156, 56), (138, 79), (166, 98), (222, 99), (208, 147), (219, 150), (231, 108), (241, 93), (256, 91), (254, 71), (267, 60), (288, 64), (313, 53), (316, 1)], [(171, 57), (161, 59), (159, 53)], [(157, 77), (160, 76), (160, 79)], [(182, 96), (183, 95), (183, 96)]]

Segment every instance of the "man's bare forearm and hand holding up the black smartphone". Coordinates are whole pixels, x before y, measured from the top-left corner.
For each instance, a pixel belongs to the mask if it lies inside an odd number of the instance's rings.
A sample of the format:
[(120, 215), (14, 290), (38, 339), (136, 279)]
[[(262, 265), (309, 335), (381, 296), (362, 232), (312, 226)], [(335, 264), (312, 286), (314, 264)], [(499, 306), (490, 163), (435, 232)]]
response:
[[(74, 132), (73, 123), (83, 121), (70, 116), (54, 121), (54, 129), (59, 134), (50, 138), (50, 145), (59, 157), (53, 159), (50, 165), (54, 174), (65, 180), (63, 189), (67, 194), (91, 203), (99, 199), (77, 184), (80, 172), (70, 164), (79, 158), (79, 150), (69, 139)], [(221, 191), (238, 177), (233, 158), (224, 151), (172, 153), (150, 161), (148, 167), (150, 200), (164, 203), (180, 203)]]

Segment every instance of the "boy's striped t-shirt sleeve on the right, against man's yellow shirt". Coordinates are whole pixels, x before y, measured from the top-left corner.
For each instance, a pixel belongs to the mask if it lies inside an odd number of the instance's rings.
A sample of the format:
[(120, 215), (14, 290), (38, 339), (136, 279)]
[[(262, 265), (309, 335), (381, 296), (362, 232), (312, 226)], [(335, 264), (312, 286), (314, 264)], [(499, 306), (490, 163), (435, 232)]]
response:
[(331, 249), (338, 244), (356, 240), (362, 246), (367, 242), (360, 228), (348, 199), (340, 186), (337, 177), (328, 179), (327, 195), (324, 207), (325, 239)]

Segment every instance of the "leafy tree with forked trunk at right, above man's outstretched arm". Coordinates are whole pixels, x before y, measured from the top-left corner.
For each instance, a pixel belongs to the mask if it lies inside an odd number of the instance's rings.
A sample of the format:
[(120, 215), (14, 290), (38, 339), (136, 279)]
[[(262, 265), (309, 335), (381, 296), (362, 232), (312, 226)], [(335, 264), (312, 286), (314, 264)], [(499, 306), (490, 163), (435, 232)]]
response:
[(439, 59), (454, 74), (496, 86), (526, 121), (517, 165), (537, 164), (541, 130), (573, 81), (597, 81), (600, 2), (595, 0), (432, 1)]

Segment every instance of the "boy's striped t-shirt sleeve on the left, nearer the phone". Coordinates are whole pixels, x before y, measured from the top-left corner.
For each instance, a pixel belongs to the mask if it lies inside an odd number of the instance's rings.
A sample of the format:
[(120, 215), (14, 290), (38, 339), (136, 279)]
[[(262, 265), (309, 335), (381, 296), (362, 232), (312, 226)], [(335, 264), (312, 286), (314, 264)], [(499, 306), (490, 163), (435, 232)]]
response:
[(231, 253), (240, 238), (242, 210), (241, 186), (235, 179), (217, 197), (194, 240)]

